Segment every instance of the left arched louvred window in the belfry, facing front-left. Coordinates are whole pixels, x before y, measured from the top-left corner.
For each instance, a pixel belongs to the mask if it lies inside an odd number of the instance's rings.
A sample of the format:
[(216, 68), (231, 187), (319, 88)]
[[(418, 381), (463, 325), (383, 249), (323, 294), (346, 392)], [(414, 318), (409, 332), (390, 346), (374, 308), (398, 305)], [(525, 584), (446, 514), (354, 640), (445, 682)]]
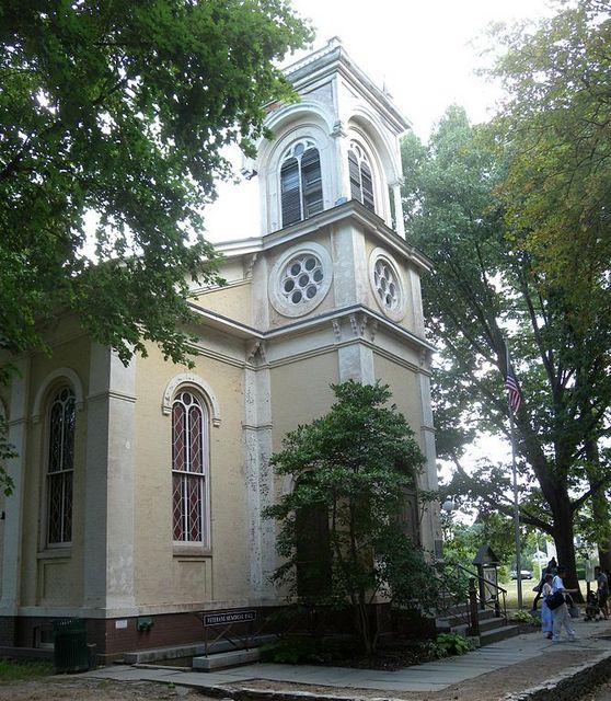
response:
[(286, 151), (280, 166), (283, 227), (308, 219), (323, 209), (321, 157), (311, 139)]

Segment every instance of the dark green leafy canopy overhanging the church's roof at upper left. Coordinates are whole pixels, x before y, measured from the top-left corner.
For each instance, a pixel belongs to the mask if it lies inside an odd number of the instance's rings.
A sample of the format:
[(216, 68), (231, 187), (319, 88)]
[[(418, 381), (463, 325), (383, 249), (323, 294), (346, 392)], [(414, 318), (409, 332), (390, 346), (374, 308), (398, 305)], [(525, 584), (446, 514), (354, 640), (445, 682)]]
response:
[(123, 360), (147, 340), (185, 359), (221, 149), (290, 99), (273, 61), (308, 38), (285, 0), (0, 1), (0, 350), (72, 310)]

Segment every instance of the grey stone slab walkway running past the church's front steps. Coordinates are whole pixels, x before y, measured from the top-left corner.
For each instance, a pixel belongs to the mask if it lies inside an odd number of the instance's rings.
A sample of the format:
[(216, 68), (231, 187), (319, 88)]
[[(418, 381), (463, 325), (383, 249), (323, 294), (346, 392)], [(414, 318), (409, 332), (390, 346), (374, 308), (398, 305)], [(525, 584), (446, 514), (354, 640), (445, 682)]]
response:
[[(542, 633), (529, 633), (487, 645), (477, 651), (438, 662), (406, 667), (396, 671), (316, 667), (307, 665), (274, 665), (256, 663), (212, 673), (183, 671), (177, 668), (130, 667), (115, 665), (87, 673), (84, 676), (120, 680), (147, 680), (198, 687), (240, 685), (253, 679), (274, 682), (298, 682), (342, 689), (378, 689), (380, 691), (440, 691), (451, 685), (473, 679), (503, 667), (541, 656), (554, 650), (589, 650), (611, 654), (611, 623), (609, 621), (574, 621), (579, 640), (553, 645)], [(601, 637), (606, 633), (610, 640)], [(596, 655), (595, 655), (596, 656)], [(247, 683), (244, 683), (247, 686)], [(276, 687), (277, 688), (277, 687)]]

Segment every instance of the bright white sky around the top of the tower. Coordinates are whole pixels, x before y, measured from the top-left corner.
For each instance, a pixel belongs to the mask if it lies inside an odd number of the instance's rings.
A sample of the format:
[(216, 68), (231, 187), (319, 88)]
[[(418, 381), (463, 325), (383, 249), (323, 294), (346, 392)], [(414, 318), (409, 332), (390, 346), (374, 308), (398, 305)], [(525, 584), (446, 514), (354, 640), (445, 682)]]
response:
[[(497, 93), (473, 73), (485, 65), (476, 46), (491, 22), (551, 13), (547, 0), (292, 0), (292, 7), (316, 30), (312, 48), (338, 36), (355, 62), (385, 84), (423, 140), (452, 103), (464, 106), (474, 123), (491, 116)], [(256, 177), (222, 184), (206, 219), (214, 242), (260, 235)]]

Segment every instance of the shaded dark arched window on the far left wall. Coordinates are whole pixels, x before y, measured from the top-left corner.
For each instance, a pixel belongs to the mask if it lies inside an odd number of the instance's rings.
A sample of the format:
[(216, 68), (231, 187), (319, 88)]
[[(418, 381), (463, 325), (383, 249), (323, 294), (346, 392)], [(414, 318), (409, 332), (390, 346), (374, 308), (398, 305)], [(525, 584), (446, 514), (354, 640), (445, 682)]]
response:
[(65, 387), (49, 409), (47, 458), (47, 544), (72, 541), (72, 484), (74, 472), (74, 423), (72, 390)]

